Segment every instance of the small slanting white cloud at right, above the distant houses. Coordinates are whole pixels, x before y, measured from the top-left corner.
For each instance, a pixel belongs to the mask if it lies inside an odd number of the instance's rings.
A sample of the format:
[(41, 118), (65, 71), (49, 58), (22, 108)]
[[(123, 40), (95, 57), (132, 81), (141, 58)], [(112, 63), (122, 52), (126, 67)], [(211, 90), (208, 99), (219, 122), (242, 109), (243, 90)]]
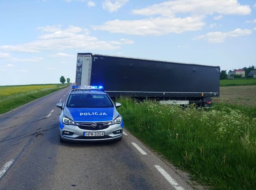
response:
[(241, 30), (240, 28), (237, 28), (236, 30), (230, 31), (230, 32), (209, 32), (205, 35), (197, 36), (194, 39), (205, 39), (210, 43), (221, 43), (225, 41), (226, 38), (229, 37), (238, 37), (238, 36), (245, 36), (252, 34), (252, 30)]

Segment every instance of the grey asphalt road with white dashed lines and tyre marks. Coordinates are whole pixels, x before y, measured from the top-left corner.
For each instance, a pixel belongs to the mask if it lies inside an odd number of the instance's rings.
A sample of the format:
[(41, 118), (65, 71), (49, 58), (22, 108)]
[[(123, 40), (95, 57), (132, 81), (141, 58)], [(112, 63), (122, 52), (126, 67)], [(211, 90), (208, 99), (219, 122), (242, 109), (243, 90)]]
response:
[(0, 116), (1, 190), (191, 189), (126, 130), (121, 141), (60, 143), (55, 105), (69, 91)]

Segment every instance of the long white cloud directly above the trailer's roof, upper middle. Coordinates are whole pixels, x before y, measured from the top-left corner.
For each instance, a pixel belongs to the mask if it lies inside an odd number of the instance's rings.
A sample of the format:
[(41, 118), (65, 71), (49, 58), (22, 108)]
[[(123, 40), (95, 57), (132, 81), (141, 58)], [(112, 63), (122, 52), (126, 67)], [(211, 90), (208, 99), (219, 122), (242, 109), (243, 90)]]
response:
[(129, 35), (155, 35), (161, 36), (169, 33), (182, 33), (184, 31), (200, 30), (205, 23), (203, 17), (185, 18), (148, 18), (141, 20), (113, 20), (107, 21), (101, 26), (93, 26), (94, 30), (107, 30), (111, 33)]

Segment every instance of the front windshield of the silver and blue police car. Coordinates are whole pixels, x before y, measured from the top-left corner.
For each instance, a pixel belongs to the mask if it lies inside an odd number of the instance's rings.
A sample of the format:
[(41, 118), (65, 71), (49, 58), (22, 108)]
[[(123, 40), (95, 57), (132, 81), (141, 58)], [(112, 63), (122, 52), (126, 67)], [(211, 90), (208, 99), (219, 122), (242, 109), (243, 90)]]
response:
[(70, 94), (67, 107), (114, 107), (106, 94)]

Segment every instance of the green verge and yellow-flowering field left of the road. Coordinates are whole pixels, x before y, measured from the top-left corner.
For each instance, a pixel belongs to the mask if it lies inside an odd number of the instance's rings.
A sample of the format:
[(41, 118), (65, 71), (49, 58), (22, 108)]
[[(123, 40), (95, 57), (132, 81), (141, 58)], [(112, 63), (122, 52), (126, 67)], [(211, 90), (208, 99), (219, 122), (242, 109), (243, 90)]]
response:
[(0, 114), (66, 87), (66, 84), (0, 86)]

